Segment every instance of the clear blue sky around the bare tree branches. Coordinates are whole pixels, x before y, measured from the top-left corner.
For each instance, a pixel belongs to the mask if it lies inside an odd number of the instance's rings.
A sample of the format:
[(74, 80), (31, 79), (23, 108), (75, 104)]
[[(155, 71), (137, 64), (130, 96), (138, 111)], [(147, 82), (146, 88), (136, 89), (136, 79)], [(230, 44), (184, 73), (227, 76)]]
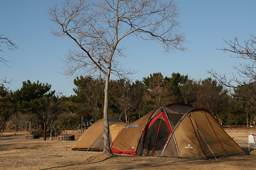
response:
[[(22, 81), (30, 80), (52, 85), (52, 90), (65, 96), (74, 94), (74, 77), (60, 74), (64, 54), (74, 43), (67, 38), (56, 38), (50, 34), (53, 23), (47, 8), (55, 0), (0, 0), (0, 34), (9, 36), (19, 48), (11, 51), (1, 45), (0, 56), (9, 60), (8, 66), (0, 63), (0, 79), (11, 80), (6, 85), (10, 90), (22, 87)], [(207, 70), (216, 70), (232, 78), (232, 66), (247, 61), (231, 58), (216, 48), (225, 46), (223, 39), (247, 40), (256, 35), (255, 0), (180, 0), (181, 30), (187, 36), (188, 50), (163, 53), (161, 45), (151, 41), (127, 38), (124, 42), (129, 55), (121, 60), (122, 65), (135, 70), (135, 81), (142, 80), (154, 72), (171, 77), (173, 72), (187, 75), (191, 79), (210, 77)]]

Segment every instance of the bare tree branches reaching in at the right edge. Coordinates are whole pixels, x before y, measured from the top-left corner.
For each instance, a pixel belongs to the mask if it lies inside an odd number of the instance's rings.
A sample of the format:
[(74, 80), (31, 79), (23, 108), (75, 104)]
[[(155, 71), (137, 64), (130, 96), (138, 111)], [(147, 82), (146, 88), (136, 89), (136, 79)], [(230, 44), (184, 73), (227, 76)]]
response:
[[(213, 70), (208, 70), (207, 72), (217, 79), (218, 82), (227, 87), (239, 87), (256, 83), (256, 36), (252, 36), (252, 38), (243, 41), (244, 45), (240, 45), (238, 37), (235, 37), (234, 40), (224, 40), (224, 42), (228, 47), (223, 47), (220, 50), (236, 54), (235, 56), (230, 55), (233, 58), (241, 58), (250, 62), (240, 64), (240, 66), (233, 66), (239, 76), (246, 79), (240, 81), (235, 77), (234, 73), (232, 79), (227, 79), (226, 74), (221, 75)], [(238, 85), (233, 85), (233, 83), (237, 83)]]

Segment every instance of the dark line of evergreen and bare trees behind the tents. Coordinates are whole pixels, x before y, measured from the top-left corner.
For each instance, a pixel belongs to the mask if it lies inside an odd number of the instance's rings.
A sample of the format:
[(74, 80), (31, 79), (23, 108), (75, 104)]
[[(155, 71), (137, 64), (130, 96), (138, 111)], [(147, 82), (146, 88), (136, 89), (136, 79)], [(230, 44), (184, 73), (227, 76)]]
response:
[[(100, 77), (76, 77), (76, 95), (69, 97), (56, 94), (51, 85), (39, 81), (24, 81), (16, 91), (0, 86), (1, 127), (15, 134), (20, 129), (33, 134), (46, 122), (50, 136), (56, 129), (83, 132), (103, 117), (104, 83)], [(193, 80), (179, 73), (164, 77), (158, 72), (142, 81), (111, 80), (108, 116), (129, 123), (165, 104), (180, 102), (210, 110), (219, 122), (242, 125), (256, 119), (255, 92), (255, 85), (227, 89), (211, 78)]]

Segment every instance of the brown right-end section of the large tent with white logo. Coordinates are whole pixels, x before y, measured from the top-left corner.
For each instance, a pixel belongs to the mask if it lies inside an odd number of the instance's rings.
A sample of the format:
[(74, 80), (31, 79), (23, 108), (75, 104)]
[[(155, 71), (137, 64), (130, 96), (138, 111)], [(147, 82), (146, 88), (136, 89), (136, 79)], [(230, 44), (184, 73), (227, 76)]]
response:
[(194, 109), (182, 119), (174, 131), (180, 157), (207, 159), (245, 154), (205, 110)]

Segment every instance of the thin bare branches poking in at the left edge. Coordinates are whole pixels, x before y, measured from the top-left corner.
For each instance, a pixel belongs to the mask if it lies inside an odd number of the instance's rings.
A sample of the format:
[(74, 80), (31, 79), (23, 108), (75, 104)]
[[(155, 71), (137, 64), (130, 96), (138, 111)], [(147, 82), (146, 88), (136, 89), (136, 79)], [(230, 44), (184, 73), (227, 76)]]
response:
[[(1, 43), (3, 43), (3, 44), (6, 44), (7, 45), (7, 47), (8, 47), (8, 49), (10, 49), (10, 50), (14, 50), (14, 49), (17, 49), (18, 48), (18, 46), (15, 44), (15, 43), (13, 43), (10, 39), (9, 39), (9, 37), (7, 36), (7, 37), (5, 37), (4, 36), (4, 34), (0, 34), (0, 46), (1, 46)], [(2, 49), (0, 49), (0, 51), (1, 52), (4, 52), (4, 51), (2, 51)], [(5, 65), (6, 65), (6, 62), (9, 62), (8, 60), (5, 60), (3, 57), (0, 57), (0, 62), (2, 62), (2, 63), (4, 63)], [(7, 65), (6, 65), (7, 66)], [(2, 84), (4, 84), (4, 83), (10, 83), (11, 81), (7, 81), (6, 80), (6, 77), (4, 77), (4, 79), (0, 79), (0, 85), (2, 85)]]

